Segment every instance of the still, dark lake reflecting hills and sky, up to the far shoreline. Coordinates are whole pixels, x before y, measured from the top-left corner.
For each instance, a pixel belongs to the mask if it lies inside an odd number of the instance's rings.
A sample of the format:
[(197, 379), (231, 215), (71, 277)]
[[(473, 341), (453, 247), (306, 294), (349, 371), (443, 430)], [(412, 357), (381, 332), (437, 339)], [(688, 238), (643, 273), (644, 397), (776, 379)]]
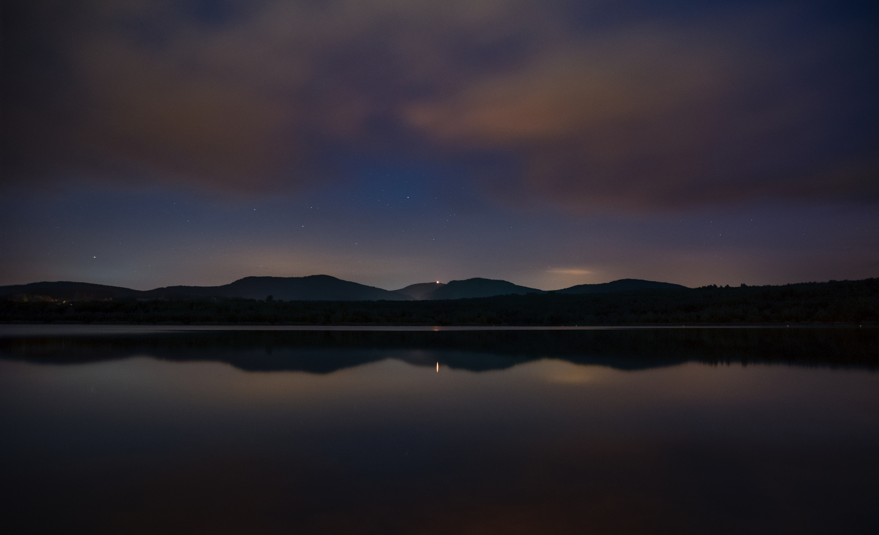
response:
[(0, 329), (3, 533), (875, 533), (875, 329)]

